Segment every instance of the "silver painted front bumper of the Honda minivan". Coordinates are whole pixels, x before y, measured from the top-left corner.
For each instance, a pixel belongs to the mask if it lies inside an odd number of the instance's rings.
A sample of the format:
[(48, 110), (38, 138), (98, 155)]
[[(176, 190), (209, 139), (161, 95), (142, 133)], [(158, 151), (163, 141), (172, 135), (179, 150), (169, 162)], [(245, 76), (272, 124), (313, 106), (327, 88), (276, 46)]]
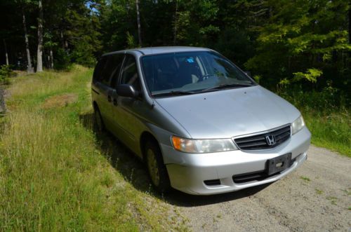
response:
[[(270, 150), (190, 154), (176, 151), (165, 144), (161, 144), (161, 150), (174, 189), (194, 195), (211, 195), (267, 184), (288, 175), (307, 159), (310, 137), (310, 131), (305, 127)], [(293, 163), (286, 170), (265, 179), (234, 182), (233, 177), (236, 175), (263, 172), (268, 159), (286, 153), (291, 153), (293, 159)], [(219, 180), (220, 184), (205, 184), (206, 180), (214, 179)]]

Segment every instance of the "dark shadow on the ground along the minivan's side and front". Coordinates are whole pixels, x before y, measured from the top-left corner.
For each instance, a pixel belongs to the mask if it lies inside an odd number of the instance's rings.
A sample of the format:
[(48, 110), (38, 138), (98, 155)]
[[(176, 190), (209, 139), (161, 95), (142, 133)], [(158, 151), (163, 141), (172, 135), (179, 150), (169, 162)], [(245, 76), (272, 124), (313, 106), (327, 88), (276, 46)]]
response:
[(230, 200), (237, 200), (252, 196), (265, 189), (270, 184), (256, 186), (250, 189), (243, 189), (232, 193), (223, 193), (213, 196), (193, 196), (177, 190), (171, 191), (166, 195), (160, 195), (152, 189), (150, 179), (147, 175), (145, 165), (134, 155), (124, 144), (121, 144), (110, 132), (98, 133), (94, 128), (93, 113), (81, 114), (79, 116), (81, 123), (88, 130), (93, 130), (96, 137), (96, 146), (110, 162), (112, 167), (119, 172), (124, 179), (131, 183), (135, 189), (148, 192), (171, 205), (192, 207), (199, 205), (211, 205)]

